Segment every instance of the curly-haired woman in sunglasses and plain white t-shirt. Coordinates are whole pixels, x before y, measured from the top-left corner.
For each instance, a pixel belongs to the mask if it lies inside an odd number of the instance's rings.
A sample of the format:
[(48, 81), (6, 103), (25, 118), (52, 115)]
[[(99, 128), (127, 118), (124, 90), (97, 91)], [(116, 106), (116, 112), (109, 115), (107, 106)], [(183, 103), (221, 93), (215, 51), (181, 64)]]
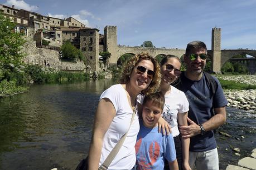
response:
[[(108, 169), (132, 169), (136, 163), (135, 143), (139, 131), (136, 98), (159, 88), (161, 74), (156, 59), (147, 53), (137, 54), (123, 67), (120, 84), (100, 96), (94, 119), (89, 151), (89, 169), (98, 169), (119, 139), (128, 131), (117, 156)], [(136, 111), (129, 129), (133, 110)], [(129, 129), (129, 130), (128, 130)]]

